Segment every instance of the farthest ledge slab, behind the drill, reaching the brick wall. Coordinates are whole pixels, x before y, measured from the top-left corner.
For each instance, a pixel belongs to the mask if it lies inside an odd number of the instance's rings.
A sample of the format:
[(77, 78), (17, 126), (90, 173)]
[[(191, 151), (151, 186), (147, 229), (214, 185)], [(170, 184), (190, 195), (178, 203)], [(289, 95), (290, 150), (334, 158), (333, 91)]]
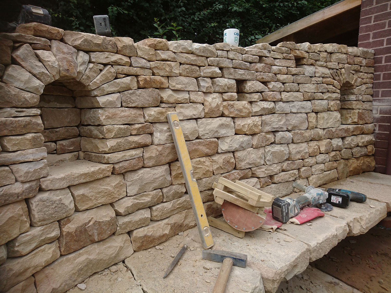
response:
[[(387, 205), (387, 213), (391, 212), (391, 197), (389, 196), (391, 194), (391, 186), (390, 186), (391, 176), (380, 174), (380, 173), (373, 173), (371, 175), (366, 175), (366, 174), (367, 173), (363, 173), (361, 175), (355, 175), (352, 177), (348, 177), (346, 179), (334, 181), (322, 187), (341, 188), (341, 189), (348, 189), (348, 190), (364, 193), (369, 199), (377, 200), (378, 202), (384, 202)], [(370, 180), (373, 181), (376, 180), (375, 178), (382, 178), (384, 176), (387, 176), (388, 181), (386, 179), (386, 180), (379, 180), (379, 183), (373, 183), (366, 180), (361, 180), (361, 178), (369, 178), (369, 176), (371, 176), (372, 178)], [(384, 182), (387, 182), (388, 185), (384, 184)]]

